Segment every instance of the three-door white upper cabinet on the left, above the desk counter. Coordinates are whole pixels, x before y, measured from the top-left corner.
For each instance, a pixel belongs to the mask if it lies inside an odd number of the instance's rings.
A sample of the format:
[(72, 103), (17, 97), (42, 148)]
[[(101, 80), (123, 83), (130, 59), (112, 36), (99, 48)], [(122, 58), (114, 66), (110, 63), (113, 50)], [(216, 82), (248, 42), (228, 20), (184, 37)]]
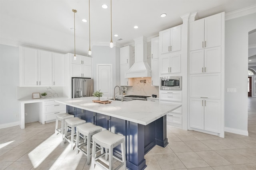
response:
[(20, 47), (20, 86), (64, 86), (64, 55)]

